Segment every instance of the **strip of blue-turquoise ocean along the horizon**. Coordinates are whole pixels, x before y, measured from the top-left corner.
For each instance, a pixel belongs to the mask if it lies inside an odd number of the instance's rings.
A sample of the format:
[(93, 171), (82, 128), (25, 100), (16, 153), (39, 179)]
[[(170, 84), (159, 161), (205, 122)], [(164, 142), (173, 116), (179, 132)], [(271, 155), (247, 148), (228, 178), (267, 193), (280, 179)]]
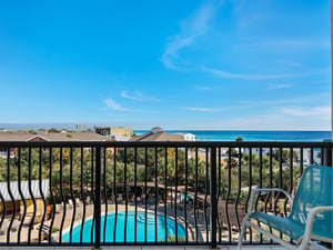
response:
[[(133, 130), (143, 134), (150, 130)], [(230, 131), (230, 130), (165, 130), (169, 133), (193, 133), (196, 141), (331, 141), (331, 131)]]

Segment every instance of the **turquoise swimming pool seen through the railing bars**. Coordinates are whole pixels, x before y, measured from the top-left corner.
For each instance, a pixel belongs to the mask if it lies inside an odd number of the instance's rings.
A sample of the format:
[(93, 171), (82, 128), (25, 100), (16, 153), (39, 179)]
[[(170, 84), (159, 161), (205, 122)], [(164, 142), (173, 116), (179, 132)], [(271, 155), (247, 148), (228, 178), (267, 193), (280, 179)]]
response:
[[(117, 226), (115, 224), (117, 219)], [(101, 242), (104, 242), (104, 221), (105, 216), (101, 217)], [(127, 221), (127, 230), (124, 230)], [(145, 242), (145, 221), (147, 221), (147, 242), (161, 242), (165, 241), (165, 230), (167, 238), (173, 236), (175, 237), (175, 221), (170, 217), (165, 217), (162, 214), (157, 216), (158, 221), (158, 231), (155, 239), (155, 214), (154, 213), (145, 213), (138, 212), (135, 220), (135, 212), (128, 212), (127, 219), (124, 212), (119, 213), (110, 213), (107, 217), (107, 229), (105, 229), (105, 242), (134, 242), (134, 227), (137, 222), (137, 242)], [(82, 242), (91, 242), (91, 228), (92, 228), (92, 219), (89, 219), (83, 224), (82, 232)], [(114, 241), (114, 228), (115, 228), (115, 241)], [(185, 229), (179, 222), (176, 223), (178, 238), (185, 238)], [(93, 227), (94, 232), (94, 227)], [(81, 224), (78, 224), (72, 230), (72, 242), (80, 242), (81, 234)], [(93, 233), (94, 234), (94, 233)], [(65, 242), (70, 242), (70, 230), (62, 234), (62, 240)], [(169, 239), (168, 239), (169, 240)], [(94, 237), (93, 240), (94, 241)]]

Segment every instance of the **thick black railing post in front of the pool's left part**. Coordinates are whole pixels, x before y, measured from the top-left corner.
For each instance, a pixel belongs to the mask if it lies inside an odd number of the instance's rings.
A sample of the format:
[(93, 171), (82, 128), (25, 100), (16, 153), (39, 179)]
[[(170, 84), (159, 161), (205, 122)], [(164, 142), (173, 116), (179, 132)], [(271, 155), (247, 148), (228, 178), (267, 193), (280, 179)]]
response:
[(94, 188), (94, 210), (95, 220), (94, 249), (101, 248), (101, 147), (95, 148), (95, 188)]

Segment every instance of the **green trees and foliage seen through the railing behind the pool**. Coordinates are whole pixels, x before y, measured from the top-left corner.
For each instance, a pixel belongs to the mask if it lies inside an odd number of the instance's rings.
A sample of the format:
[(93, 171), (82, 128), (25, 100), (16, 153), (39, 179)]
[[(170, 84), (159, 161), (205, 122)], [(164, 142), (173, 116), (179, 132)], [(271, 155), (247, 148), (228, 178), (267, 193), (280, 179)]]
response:
[[(206, 181), (210, 162), (206, 162), (205, 153), (200, 154), (191, 148), (188, 151), (182, 148), (108, 148), (102, 149), (101, 154), (102, 184), (107, 187), (109, 194), (114, 191), (114, 184), (123, 187), (124, 181), (134, 180), (158, 181), (159, 184), (168, 186), (188, 183), (201, 192), (209, 190)], [(81, 188), (84, 188), (87, 194), (91, 192), (91, 182), (95, 177), (94, 150), (53, 148), (50, 151), (33, 148), (21, 149), (20, 158), (18, 156), (17, 153), (14, 159), (9, 159), (9, 162), (0, 158), (0, 181), (49, 178), (57, 201), (61, 201), (62, 196), (71, 198), (71, 191), (74, 191), (74, 196), (80, 196)], [(245, 202), (248, 193), (241, 191), (244, 187), (261, 184), (292, 190), (301, 174), (299, 158), (297, 152), (291, 153), (284, 149), (272, 150), (272, 156), (261, 158), (254, 152), (250, 158), (249, 152), (240, 153), (231, 149), (231, 158), (218, 161), (221, 162), (216, 170), (218, 177), (220, 174), (220, 196), (228, 194), (231, 202), (238, 198)]]

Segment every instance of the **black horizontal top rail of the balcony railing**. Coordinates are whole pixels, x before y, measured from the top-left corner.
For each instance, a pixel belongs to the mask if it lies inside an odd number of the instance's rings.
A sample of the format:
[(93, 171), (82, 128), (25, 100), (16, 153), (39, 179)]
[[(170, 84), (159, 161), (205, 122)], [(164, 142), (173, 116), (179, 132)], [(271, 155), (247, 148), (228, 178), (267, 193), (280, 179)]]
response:
[(332, 148), (333, 142), (309, 141), (0, 141), (0, 148), (59, 148), (59, 147), (222, 147), (222, 148)]

